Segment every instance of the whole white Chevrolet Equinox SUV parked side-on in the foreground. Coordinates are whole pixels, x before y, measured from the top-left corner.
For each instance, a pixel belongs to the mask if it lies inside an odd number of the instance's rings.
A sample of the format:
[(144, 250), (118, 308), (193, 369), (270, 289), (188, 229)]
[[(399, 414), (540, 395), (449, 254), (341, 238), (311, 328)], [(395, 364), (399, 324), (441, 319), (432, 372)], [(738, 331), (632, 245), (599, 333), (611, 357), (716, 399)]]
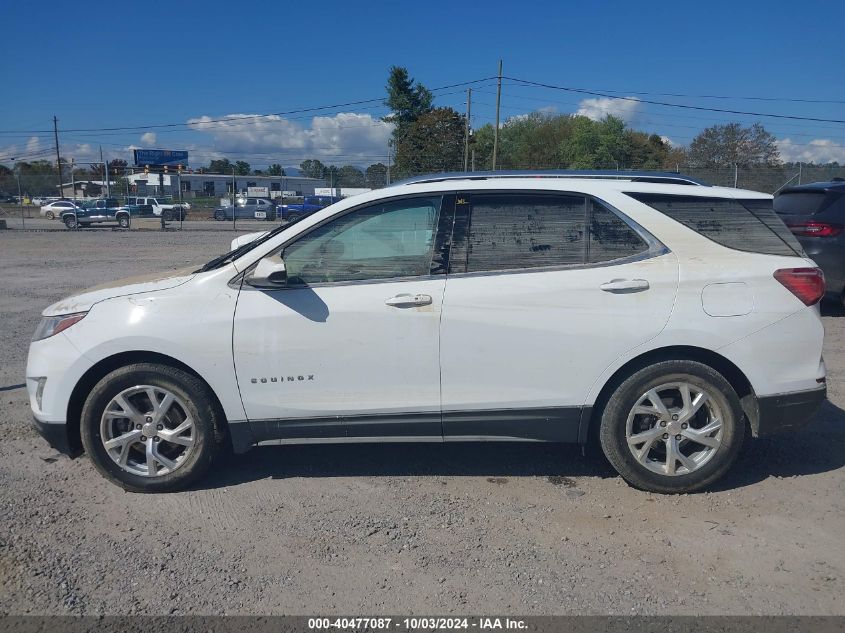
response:
[(47, 308), (42, 434), (141, 492), (224, 447), (504, 440), (595, 441), (671, 493), (825, 398), (823, 276), (766, 194), (440, 175), (252, 237)]

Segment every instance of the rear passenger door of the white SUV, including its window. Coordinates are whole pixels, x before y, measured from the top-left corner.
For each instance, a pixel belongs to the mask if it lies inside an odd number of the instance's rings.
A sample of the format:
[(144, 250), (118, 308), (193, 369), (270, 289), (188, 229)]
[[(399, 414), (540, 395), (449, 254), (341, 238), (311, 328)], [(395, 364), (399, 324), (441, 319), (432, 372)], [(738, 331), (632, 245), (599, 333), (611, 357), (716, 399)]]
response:
[(576, 441), (590, 387), (667, 322), (678, 264), (579, 194), (458, 195), (441, 321), (445, 439)]

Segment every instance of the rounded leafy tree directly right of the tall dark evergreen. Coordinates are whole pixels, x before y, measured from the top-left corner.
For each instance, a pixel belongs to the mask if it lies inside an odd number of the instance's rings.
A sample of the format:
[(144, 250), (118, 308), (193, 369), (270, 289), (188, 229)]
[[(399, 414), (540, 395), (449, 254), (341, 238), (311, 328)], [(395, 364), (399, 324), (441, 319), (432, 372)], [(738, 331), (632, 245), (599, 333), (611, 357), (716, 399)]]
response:
[(398, 177), (463, 168), (464, 117), (435, 108), (410, 123), (396, 143)]

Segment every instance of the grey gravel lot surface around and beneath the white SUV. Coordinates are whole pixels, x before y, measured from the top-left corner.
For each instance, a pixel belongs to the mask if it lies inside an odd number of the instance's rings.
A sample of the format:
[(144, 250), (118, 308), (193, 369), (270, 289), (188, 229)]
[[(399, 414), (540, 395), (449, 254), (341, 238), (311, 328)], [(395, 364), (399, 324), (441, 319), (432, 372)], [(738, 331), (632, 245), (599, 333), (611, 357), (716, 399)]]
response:
[(638, 492), (574, 447), (492, 444), (255, 449), (196, 490), (136, 495), (50, 449), (21, 386), (40, 310), (231, 238), (0, 231), (0, 613), (845, 614), (832, 309), (817, 422), (747, 447), (702, 494)]

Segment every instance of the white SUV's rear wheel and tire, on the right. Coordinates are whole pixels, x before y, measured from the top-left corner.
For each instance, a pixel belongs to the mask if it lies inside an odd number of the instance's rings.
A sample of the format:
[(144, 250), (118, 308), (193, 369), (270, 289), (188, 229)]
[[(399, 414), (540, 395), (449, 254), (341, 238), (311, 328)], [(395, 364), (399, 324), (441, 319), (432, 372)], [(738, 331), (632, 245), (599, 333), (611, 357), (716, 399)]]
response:
[(744, 437), (733, 387), (712, 367), (686, 360), (659, 362), (625, 379), (607, 401), (599, 427), (602, 450), (625, 481), (669, 494), (693, 492), (722, 477)]

